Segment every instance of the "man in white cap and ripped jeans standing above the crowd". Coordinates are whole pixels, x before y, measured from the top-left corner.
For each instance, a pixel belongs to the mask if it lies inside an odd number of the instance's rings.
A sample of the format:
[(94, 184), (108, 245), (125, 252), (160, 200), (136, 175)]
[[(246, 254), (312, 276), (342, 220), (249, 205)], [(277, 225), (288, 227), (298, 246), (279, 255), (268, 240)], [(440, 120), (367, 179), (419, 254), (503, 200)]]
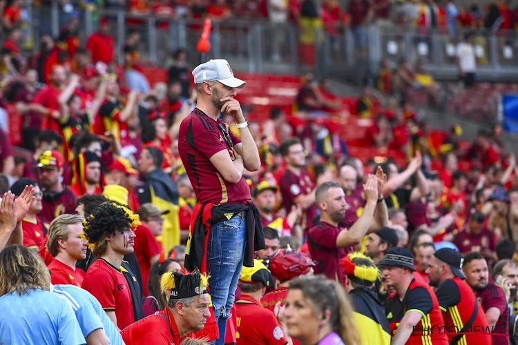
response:
[[(241, 268), (253, 266), (253, 251), (265, 246), (260, 216), (243, 178), (245, 168), (259, 169), (260, 159), (240, 103), (233, 98), (245, 82), (233, 76), (226, 60), (202, 63), (193, 76), (198, 102), (180, 125), (178, 143), (199, 203), (193, 210), (191, 222), (196, 226), (189, 235), (185, 266), (211, 276), (210, 294), (220, 333), (216, 344), (223, 344)], [(218, 119), (220, 112), (236, 121), (241, 139)], [(208, 242), (204, 236), (209, 236)]]

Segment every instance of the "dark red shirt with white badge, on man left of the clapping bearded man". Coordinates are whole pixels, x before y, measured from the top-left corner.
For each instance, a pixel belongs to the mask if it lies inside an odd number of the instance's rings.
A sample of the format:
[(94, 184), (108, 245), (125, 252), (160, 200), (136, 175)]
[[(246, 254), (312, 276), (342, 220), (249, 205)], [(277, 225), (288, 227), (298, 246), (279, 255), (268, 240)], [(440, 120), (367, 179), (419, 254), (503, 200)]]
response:
[[(296, 175), (289, 169), (286, 169), (284, 175), (279, 181), (280, 193), (282, 194), (282, 206), (286, 212), (291, 211), (291, 206), (295, 204), (294, 199), (300, 195), (307, 195), (314, 189), (314, 183), (305, 170)], [(311, 226), (311, 222), (316, 217), (315, 205), (309, 206), (303, 213), (300, 226), (305, 229)]]

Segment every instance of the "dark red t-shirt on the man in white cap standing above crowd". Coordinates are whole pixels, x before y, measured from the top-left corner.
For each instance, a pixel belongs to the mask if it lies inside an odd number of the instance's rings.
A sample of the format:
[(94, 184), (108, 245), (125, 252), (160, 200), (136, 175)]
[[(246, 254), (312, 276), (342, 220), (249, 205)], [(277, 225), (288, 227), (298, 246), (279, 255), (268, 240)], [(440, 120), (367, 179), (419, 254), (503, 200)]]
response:
[[(214, 121), (195, 108), (180, 124), (180, 158), (198, 202), (248, 204), (251, 201), (250, 188), (244, 177), (237, 184), (231, 184), (225, 181), (209, 160), (221, 150), (228, 150), (230, 157), (235, 159), (234, 150), (224, 139), (220, 126), (227, 125), (220, 119)], [(231, 131), (227, 132), (234, 146), (241, 142)]]

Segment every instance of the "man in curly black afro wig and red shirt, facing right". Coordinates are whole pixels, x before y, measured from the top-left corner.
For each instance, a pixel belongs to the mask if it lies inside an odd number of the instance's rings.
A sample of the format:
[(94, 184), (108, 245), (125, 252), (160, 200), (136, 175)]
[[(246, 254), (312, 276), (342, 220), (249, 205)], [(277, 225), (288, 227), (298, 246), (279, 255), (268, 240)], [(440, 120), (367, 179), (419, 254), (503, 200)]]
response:
[(97, 298), (119, 329), (144, 316), (137, 279), (124, 278), (124, 272), (135, 277), (123, 259), (133, 253), (138, 225), (138, 215), (114, 201), (101, 204), (84, 221), (84, 236), (98, 259), (88, 268), (82, 288)]

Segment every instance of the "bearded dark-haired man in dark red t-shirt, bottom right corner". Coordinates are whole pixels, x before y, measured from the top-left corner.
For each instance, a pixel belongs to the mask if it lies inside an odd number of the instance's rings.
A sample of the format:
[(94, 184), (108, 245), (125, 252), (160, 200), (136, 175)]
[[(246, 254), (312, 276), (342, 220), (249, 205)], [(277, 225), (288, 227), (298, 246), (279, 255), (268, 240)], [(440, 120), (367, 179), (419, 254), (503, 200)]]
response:
[(508, 334), (509, 308), (503, 290), (489, 282), (489, 270), (486, 259), (478, 253), (472, 252), (464, 256), (462, 270), (466, 275), (466, 282), (471, 286), (477, 299), (481, 302), (483, 312), (486, 313), (494, 345), (509, 344)]

